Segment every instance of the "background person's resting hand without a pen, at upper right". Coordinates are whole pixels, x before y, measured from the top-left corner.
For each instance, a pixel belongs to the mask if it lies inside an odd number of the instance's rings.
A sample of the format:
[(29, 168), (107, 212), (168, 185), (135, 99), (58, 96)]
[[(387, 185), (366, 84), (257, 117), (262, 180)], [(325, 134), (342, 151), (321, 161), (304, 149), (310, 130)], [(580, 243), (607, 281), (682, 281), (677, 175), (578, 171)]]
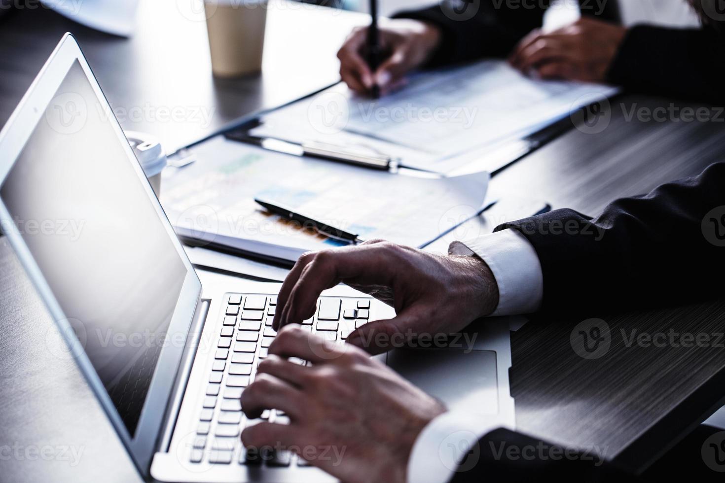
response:
[(534, 70), (543, 79), (604, 82), (626, 28), (583, 18), (571, 25), (542, 33), (534, 30), (509, 57), (513, 67)]

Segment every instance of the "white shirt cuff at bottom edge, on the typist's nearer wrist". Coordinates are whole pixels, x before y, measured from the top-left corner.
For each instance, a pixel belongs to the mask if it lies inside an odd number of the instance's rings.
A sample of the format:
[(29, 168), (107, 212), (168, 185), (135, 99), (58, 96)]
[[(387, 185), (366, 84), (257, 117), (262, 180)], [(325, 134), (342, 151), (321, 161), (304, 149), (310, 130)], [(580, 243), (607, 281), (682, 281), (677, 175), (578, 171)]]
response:
[[(413, 444), (407, 466), (409, 483), (448, 482), (466, 454), (485, 434), (502, 427), (498, 416), (443, 413), (423, 428)], [(509, 428), (513, 429), (513, 428)]]

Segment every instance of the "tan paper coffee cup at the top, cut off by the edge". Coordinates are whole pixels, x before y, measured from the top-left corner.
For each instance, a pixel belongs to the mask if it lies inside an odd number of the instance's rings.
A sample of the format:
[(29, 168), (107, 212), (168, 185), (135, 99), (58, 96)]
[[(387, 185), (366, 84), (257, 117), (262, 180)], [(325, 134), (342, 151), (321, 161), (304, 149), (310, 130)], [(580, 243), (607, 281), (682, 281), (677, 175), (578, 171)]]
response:
[(267, 7), (267, 0), (204, 0), (215, 76), (262, 70)]

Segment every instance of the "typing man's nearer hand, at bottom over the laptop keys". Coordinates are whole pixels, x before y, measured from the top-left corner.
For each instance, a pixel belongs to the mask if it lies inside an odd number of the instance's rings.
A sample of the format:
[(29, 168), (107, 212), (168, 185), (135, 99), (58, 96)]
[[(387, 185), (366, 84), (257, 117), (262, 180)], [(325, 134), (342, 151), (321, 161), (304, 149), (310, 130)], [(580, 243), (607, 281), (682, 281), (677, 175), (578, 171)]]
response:
[(416, 437), (445, 411), (438, 401), (362, 350), (297, 327), (282, 329), (269, 353), (241, 407), (250, 419), (279, 409), (290, 424), (247, 427), (245, 446), (294, 450), (344, 482), (406, 481)]

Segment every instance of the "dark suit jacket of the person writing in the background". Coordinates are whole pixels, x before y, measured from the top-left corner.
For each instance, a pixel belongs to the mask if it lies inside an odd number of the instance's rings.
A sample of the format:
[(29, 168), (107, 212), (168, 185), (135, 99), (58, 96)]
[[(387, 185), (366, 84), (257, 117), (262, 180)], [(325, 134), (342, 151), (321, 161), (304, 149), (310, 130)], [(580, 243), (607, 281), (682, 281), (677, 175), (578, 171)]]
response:
[[(619, 21), (616, 0), (579, 3), (582, 15)], [(548, 4), (550, 0), (444, 0), (395, 17), (424, 20), (441, 29), (442, 45), (431, 59), (431, 66), (439, 66), (507, 56), (524, 35), (542, 25)], [(711, 20), (703, 29), (630, 28), (610, 66), (608, 81), (630, 91), (725, 101), (723, 23)]]

